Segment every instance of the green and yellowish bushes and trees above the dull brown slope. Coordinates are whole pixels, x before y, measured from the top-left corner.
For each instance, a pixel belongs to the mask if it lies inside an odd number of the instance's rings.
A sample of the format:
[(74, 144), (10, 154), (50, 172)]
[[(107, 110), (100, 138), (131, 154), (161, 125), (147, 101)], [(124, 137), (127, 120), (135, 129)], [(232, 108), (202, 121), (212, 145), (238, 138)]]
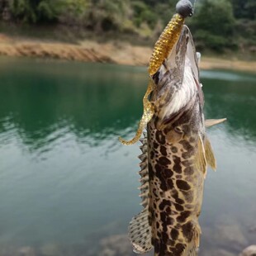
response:
[[(32, 25), (59, 21), (97, 34), (137, 34), (156, 39), (173, 17), (178, 0), (2, 0), (14, 21)], [(1, 3), (1, 0), (0, 0)], [(200, 50), (255, 48), (255, 0), (197, 0), (187, 18)], [(1, 14), (1, 13), (0, 13)], [(242, 45), (242, 46), (241, 46)]]

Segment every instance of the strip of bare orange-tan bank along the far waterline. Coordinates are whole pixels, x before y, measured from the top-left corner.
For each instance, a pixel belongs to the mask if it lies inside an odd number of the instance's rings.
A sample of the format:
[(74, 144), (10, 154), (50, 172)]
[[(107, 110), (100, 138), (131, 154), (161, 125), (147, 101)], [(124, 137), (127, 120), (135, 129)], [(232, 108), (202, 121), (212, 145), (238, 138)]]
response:
[[(152, 48), (130, 45), (121, 41), (98, 43), (94, 40), (83, 40), (78, 44), (40, 40), (15, 40), (0, 34), (0, 55), (10, 57), (36, 57), (42, 59), (78, 60), (83, 62), (125, 64), (147, 66)], [(225, 69), (256, 73), (256, 61), (244, 61), (230, 57), (201, 58), (202, 70)]]

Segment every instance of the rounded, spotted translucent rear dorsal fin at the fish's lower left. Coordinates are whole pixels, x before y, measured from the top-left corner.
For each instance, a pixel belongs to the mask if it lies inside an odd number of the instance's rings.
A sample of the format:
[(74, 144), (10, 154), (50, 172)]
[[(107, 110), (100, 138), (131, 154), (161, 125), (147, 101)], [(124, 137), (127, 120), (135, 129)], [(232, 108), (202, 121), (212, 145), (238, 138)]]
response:
[(129, 238), (136, 254), (144, 254), (152, 249), (149, 210), (145, 208), (134, 216), (129, 224)]

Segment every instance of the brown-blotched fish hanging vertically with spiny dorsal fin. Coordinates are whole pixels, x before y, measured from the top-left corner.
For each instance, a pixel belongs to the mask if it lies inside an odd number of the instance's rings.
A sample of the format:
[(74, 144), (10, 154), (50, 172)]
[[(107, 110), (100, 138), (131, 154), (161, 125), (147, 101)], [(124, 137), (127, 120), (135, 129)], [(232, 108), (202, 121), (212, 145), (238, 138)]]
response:
[(134, 252), (154, 256), (196, 256), (207, 166), (216, 158), (206, 127), (199, 78), (199, 55), (183, 25), (173, 49), (150, 75), (153, 114), (140, 139), (140, 197), (144, 207), (129, 225)]

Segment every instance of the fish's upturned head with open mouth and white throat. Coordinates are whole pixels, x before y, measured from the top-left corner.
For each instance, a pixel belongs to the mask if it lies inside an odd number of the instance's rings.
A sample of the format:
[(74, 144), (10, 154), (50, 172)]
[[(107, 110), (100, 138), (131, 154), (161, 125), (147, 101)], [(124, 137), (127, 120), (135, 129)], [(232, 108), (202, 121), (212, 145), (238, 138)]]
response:
[(189, 108), (197, 96), (203, 103), (198, 56), (191, 32), (187, 26), (183, 26), (173, 50), (152, 76), (155, 87), (150, 102), (154, 105), (157, 129), (172, 123), (175, 116)]

